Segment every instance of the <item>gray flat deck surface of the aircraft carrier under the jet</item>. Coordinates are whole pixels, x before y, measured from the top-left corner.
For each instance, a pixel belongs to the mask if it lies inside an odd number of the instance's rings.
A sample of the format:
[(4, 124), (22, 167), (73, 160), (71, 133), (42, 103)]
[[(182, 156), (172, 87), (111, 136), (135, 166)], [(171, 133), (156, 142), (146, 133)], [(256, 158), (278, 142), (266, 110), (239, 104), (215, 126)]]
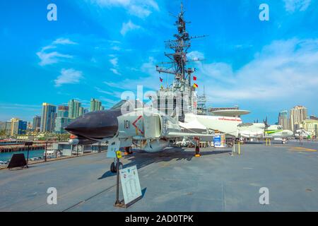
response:
[[(116, 177), (105, 153), (0, 171), (0, 211), (318, 211), (318, 143), (179, 148), (124, 157), (137, 165), (144, 196), (128, 209), (114, 208)], [(300, 148), (298, 148), (300, 147)], [(55, 187), (57, 205), (48, 205)], [(259, 189), (269, 188), (269, 205)], [(122, 197), (122, 194), (120, 194)]]

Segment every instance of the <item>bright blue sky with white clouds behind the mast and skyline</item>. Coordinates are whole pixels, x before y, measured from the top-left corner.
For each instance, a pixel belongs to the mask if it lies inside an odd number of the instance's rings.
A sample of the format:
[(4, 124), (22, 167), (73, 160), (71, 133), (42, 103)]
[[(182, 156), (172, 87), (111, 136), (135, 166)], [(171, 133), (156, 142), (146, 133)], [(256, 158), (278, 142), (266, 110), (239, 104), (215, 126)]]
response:
[[(57, 20), (47, 20), (47, 6)], [(259, 6), (269, 6), (261, 21)], [(179, 0), (0, 1), (0, 121), (32, 121), (42, 102), (106, 108), (124, 91), (158, 90)], [(238, 105), (244, 121), (304, 105), (318, 114), (318, 0), (184, 0), (189, 59), (209, 107)]]

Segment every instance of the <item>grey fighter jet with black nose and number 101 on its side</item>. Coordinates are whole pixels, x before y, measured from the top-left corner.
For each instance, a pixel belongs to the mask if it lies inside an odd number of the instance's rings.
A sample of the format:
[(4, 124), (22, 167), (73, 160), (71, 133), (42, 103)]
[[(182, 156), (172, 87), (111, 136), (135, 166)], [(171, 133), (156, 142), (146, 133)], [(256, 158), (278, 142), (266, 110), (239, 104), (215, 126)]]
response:
[[(107, 157), (113, 157), (110, 170), (116, 171), (115, 151), (124, 148), (128, 153), (131, 145), (146, 143), (143, 150), (148, 153), (160, 152), (170, 143), (183, 138), (210, 138), (203, 133), (185, 133), (175, 117), (170, 117), (147, 106), (134, 107), (129, 101), (120, 102), (110, 110), (89, 112), (72, 121), (66, 131), (77, 138), (69, 143), (107, 142)], [(196, 148), (199, 154), (199, 148)]]

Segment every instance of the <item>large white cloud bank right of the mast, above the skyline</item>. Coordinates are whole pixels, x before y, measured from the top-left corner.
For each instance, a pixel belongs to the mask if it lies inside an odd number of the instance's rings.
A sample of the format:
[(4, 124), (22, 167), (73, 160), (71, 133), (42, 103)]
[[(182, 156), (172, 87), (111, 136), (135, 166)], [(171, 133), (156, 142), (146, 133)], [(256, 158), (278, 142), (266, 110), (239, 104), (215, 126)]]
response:
[(213, 103), (295, 102), (318, 96), (318, 40), (278, 40), (248, 64), (197, 63), (199, 87)]

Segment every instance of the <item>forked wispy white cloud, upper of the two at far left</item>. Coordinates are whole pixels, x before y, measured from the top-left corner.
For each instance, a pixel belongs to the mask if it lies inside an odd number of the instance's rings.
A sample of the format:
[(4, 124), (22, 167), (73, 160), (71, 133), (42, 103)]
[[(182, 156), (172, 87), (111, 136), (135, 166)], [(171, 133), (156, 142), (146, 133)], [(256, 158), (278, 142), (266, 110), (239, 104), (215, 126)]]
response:
[(57, 40), (54, 40), (51, 44), (42, 47), (40, 52), (37, 52), (37, 57), (40, 58), (40, 66), (46, 66), (49, 64), (56, 64), (58, 63), (60, 60), (63, 59), (71, 59), (73, 58), (73, 56), (69, 55), (69, 54), (61, 54), (60, 52), (54, 51), (54, 52), (49, 52), (49, 50), (52, 49), (57, 49), (57, 47), (60, 44), (77, 44), (76, 42), (72, 42), (69, 39), (66, 38), (58, 38)]

